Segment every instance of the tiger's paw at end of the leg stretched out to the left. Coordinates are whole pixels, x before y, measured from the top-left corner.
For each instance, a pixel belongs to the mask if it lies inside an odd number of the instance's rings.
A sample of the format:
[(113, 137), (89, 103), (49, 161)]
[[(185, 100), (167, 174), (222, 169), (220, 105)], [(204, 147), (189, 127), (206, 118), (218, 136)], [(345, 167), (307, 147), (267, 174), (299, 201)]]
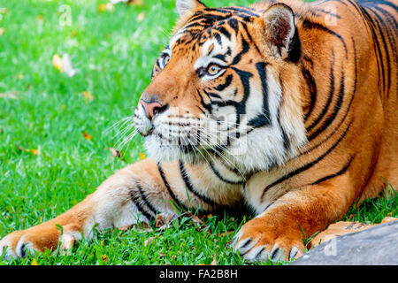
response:
[[(57, 226), (34, 226), (27, 230), (15, 231), (0, 241), (0, 257), (5, 260), (24, 258), (27, 254), (34, 255), (34, 251), (56, 249), (58, 241), (62, 241), (61, 249), (71, 249), (75, 238), (70, 233), (61, 232)], [(61, 239), (60, 239), (61, 238)]]

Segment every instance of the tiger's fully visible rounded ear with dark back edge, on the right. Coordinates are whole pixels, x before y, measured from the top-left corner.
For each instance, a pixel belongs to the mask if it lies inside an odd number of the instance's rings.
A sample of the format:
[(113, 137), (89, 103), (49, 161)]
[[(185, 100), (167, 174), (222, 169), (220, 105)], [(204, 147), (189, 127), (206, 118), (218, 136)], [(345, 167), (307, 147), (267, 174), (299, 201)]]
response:
[(301, 42), (295, 26), (295, 14), (286, 4), (273, 4), (263, 14), (264, 40), (273, 57), (296, 62), (301, 56)]

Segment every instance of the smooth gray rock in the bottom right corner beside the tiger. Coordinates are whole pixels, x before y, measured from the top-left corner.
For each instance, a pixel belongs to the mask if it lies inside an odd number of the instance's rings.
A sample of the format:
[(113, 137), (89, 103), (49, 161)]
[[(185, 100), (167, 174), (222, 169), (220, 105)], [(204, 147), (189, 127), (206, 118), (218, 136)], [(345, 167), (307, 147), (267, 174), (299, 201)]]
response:
[(325, 241), (292, 264), (398, 265), (398, 221)]

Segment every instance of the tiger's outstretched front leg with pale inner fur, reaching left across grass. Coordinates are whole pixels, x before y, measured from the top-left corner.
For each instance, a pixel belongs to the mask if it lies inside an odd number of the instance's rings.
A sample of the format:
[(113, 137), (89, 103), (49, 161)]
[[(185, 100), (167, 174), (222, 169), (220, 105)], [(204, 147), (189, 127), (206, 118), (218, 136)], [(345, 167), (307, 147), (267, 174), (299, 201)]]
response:
[[(81, 234), (90, 238), (94, 226), (103, 230), (130, 226), (141, 221), (149, 222), (150, 218), (156, 218), (159, 213), (174, 215), (176, 211), (172, 203), (193, 210), (198, 207), (213, 210), (219, 197), (228, 203), (228, 195), (209, 196), (197, 187), (194, 190), (193, 184), (190, 184), (188, 190), (188, 177), (182, 176), (180, 167), (178, 162), (160, 165), (152, 159), (129, 165), (57, 218), (5, 236), (0, 241), (0, 255), (6, 248), (6, 258), (24, 257), (27, 252), (33, 253), (34, 250), (55, 249), (59, 241), (68, 248), (68, 242), (80, 240)], [(186, 164), (183, 169), (193, 179), (198, 168)], [(210, 200), (211, 197), (213, 199)]]

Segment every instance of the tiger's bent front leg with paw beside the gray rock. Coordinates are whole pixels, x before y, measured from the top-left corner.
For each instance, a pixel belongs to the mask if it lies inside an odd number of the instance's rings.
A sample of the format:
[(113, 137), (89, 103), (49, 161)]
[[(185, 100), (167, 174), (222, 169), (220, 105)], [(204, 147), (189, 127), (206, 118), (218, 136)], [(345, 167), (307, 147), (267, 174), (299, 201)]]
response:
[(302, 256), (304, 240), (344, 216), (353, 199), (344, 177), (327, 184), (274, 187), (269, 191), (254, 183), (251, 187), (248, 184), (245, 196), (257, 216), (241, 227), (232, 243), (234, 250), (249, 261), (287, 261)]

